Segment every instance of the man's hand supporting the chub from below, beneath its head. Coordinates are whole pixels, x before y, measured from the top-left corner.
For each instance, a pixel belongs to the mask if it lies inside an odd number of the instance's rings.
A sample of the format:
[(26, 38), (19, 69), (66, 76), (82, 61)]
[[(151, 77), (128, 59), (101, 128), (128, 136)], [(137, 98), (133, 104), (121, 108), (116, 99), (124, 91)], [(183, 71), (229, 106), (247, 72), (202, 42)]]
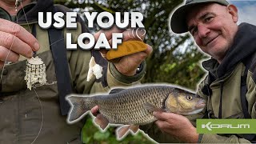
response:
[(155, 111), (153, 115), (158, 118), (155, 124), (163, 133), (170, 134), (184, 142), (198, 142), (199, 134), (197, 134), (196, 128), (186, 117), (161, 111)]

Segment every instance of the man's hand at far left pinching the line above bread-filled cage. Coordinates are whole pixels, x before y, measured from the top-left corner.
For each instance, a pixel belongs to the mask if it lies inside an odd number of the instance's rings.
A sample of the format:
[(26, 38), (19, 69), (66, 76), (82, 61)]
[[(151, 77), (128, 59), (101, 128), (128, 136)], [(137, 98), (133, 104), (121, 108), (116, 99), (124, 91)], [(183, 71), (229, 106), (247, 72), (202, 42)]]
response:
[[(10, 54), (6, 58), (9, 50)], [(0, 18), (0, 68), (5, 60), (17, 62), (19, 54), (31, 58), (37, 50), (39, 50), (38, 40), (30, 32), (14, 22)]]

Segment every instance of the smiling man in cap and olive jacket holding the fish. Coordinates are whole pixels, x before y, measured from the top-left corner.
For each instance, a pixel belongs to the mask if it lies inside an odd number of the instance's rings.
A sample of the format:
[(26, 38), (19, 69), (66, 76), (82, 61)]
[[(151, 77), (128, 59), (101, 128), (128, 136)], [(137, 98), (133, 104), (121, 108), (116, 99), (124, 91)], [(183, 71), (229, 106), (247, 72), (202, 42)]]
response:
[[(256, 26), (238, 26), (238, 9), (225, 0), (186, 0), (174, 11), (174, 33), (190, 32), (198, 47), (211, 56), (202, 62), (208, 75), (198, 86), (206, 99), (199, 114), (182, 116), (155, 110), (158, 120), (140, 126), (157, 142), (255, 142), (255, 134), (198, 134), (197, 118), (256, 118)], [(91, 111), (96, 115), (98, 106)]]

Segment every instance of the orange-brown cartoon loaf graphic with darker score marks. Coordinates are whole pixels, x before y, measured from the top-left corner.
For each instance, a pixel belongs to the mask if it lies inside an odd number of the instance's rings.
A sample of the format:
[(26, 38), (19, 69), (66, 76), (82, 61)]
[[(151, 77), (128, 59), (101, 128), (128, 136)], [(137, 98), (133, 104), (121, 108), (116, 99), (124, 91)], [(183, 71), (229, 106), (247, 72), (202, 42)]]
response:
[(146, 44), (141, 41), (126, 41), (118, 45), (118, 49), (111, 49), (106, 53), (106, 59), (112, 60), (114, 58), (121, 58), (126, 55), (138, 53), (146, 50)]

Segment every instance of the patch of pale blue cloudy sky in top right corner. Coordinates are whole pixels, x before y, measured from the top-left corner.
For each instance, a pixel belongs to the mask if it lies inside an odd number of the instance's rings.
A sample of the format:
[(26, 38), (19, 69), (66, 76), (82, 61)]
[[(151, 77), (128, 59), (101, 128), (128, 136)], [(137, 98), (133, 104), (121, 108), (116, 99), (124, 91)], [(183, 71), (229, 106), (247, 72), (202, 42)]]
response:
[(238, 7), (239, 21), (256, 25), (256, 0), (229, 0), (230, 3)]

